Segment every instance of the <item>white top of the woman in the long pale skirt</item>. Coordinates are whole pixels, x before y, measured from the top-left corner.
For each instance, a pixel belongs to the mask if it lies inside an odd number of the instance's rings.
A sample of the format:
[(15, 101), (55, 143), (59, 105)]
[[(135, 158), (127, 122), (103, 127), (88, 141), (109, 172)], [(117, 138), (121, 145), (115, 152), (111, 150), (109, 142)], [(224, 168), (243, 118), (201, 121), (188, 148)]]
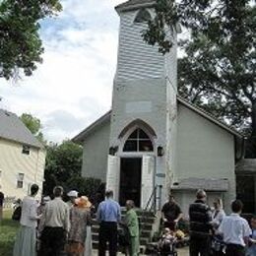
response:
[(23, 200), (20, 224), (35, 228), (37, 226), (37, 207), (38, 203), (33, 197), (25, 197)]

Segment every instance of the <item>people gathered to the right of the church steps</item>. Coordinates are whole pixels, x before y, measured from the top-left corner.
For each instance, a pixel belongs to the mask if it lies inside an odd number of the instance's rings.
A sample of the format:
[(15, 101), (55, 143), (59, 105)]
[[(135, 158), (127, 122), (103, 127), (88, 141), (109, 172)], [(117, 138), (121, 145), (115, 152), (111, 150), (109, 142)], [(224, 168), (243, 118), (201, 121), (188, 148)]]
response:
[[(243, 204), (231, 202), (232, 213), (224, 213), (222, 200), (216, 198), (213, 209), (207, 205), (207, 194), (198, 190), (196, 200), (189, 206), (189, 255), (190, 256), (256, 256), (256, 217), (251, 226), (240, 217)], [(175, 229), (182, 218), (180, 207), (173, 196), (162, 207), (165, 228)]]

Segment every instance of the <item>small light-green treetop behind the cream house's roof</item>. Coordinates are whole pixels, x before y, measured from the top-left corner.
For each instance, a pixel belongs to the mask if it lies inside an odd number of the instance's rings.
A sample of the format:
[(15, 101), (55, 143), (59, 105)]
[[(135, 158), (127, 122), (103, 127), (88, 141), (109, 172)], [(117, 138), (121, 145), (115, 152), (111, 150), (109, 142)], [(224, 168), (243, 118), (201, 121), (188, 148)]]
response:
[(27, 128), (32, 132), (32, 134), (42, 143), (45, 143), (43, 139), (43, 134), (41, 132), (41, 122), (40, 119), (32, 116), (32, 114), (23, 113), (20, 119), (27, 126)]

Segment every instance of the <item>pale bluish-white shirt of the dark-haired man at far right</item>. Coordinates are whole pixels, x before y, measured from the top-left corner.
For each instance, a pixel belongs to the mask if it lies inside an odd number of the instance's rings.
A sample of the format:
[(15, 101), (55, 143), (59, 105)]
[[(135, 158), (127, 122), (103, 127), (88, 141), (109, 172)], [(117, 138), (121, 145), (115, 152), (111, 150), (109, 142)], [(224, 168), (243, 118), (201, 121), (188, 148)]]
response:
[(251, 234), (251, 228), (247, 221), (238, 214), (224, 217), (218, 231), (224, 235), (226, 244), (239, 244), (245, 246), (244, 237)]

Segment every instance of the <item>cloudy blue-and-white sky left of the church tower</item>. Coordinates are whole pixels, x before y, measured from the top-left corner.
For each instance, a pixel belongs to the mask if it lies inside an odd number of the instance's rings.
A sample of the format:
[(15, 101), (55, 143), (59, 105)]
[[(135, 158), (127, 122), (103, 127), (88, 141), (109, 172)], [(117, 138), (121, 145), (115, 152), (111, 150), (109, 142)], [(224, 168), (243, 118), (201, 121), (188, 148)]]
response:
[(47, 141), (73, 138), (111, 107), (119, 17), (125, 0), (63, 0), (41, 23), (43, 63), (18, 82), (0, 79), (0, 108), (40, 119)]

